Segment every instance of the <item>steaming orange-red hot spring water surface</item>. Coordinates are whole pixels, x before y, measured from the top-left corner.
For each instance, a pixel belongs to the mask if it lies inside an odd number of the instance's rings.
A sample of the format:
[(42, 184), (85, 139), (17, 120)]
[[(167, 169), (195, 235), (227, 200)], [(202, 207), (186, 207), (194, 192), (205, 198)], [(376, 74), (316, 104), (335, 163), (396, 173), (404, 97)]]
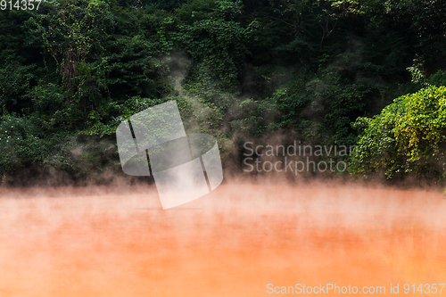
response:
[(268, 284), (446, 294), (403, 290), (446, 284), (434, 191), (229, 183), (170, 210), (142, 186), (0, 196), (2, 297), (270, 296)]

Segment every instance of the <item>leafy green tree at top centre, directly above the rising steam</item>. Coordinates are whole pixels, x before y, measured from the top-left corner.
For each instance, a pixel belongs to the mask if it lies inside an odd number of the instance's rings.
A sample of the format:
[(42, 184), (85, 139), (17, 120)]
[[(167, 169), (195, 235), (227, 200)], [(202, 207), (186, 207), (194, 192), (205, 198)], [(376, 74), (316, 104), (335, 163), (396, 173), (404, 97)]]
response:
[(181, 22), (173, 39), (195, 62), (201, 63), (198, 69), (209, 68), (222, 87), (236, 83), (248, 54), (245, 46), (248, 29), (236, 21), (242, 5), (241, 0), (192, 1), (177, 12)]

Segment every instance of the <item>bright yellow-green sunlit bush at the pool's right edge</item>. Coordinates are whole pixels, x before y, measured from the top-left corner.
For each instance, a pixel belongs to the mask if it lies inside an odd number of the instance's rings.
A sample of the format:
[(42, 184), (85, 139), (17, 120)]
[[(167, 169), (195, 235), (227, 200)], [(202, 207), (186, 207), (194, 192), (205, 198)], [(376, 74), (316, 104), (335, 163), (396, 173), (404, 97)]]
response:
[(359, 118), (365, 128), (351, 171), (369, 177), (383, 170), (386, 177), (415, 174), (446, 177), (446, 87), (426, 87), (403, 95), (373, 119)]

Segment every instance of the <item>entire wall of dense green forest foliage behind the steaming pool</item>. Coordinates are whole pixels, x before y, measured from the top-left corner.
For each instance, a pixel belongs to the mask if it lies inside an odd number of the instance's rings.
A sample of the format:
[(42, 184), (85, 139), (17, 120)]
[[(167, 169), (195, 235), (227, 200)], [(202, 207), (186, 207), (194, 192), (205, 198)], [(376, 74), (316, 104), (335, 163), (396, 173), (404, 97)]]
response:
[(120, 172), (120, 121), (177, 100), (225, 162), (280, 132), (358, 143), (355, 176), (444, 180), (441, 0), (55, 0), (0, 14), (4, 179)]

